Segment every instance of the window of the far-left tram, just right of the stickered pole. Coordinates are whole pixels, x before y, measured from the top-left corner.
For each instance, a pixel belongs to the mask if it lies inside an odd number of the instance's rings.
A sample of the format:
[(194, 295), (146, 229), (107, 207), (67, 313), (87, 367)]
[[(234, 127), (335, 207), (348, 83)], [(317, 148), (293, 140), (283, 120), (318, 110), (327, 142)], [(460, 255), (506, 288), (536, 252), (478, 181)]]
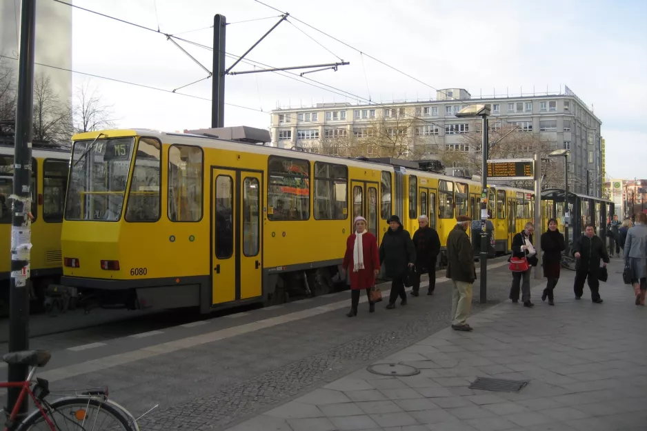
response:
[(43, 161), (43, 220), (48, 223), (63, 221), (69, 168), (67, 161)]

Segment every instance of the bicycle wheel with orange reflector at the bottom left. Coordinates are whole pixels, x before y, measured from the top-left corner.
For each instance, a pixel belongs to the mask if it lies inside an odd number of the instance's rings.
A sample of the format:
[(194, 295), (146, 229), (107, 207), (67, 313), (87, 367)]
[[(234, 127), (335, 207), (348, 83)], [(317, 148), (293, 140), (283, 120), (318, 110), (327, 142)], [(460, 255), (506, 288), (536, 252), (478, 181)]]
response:
[[(101, 399), (90, 397), (61, 398), (49, 403), (48, 418), (57, 431), (135, 431), (121, 410)], [(50, 426), (39, 410), (19, 425), (18, 431), (49, 431)]]

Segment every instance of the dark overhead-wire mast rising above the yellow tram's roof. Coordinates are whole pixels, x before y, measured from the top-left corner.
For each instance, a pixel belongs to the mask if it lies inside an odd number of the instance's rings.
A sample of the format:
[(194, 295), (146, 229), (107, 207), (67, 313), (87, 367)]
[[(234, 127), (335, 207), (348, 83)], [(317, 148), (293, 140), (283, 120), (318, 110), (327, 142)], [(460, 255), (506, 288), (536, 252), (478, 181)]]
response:
[(213, 82), (211, 95), (211, 127), (225, 126), (225, 34), (227, 19), (213, 17)]

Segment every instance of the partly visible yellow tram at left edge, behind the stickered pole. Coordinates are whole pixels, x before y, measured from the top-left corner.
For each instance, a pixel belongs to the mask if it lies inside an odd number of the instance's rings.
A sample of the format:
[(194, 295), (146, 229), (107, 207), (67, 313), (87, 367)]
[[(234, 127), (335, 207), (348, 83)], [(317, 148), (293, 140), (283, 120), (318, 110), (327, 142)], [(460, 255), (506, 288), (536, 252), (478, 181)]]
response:
[[(32, 299), (43, 299), (49, 283), (61, 276), (61, 224), (68, 181), (68, 150), (32, 149)], [(8, 304), (11, 201), (14, 148), (0, 146), (0, 301)]]

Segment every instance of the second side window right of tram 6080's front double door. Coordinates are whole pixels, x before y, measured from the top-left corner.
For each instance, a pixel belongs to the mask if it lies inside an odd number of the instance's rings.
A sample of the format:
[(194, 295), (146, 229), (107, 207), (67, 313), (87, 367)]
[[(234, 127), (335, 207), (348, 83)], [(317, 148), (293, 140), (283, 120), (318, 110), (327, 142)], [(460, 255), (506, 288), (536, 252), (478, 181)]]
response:
[(348, 218), (348, 168), (315, 162), (315, 219)]

